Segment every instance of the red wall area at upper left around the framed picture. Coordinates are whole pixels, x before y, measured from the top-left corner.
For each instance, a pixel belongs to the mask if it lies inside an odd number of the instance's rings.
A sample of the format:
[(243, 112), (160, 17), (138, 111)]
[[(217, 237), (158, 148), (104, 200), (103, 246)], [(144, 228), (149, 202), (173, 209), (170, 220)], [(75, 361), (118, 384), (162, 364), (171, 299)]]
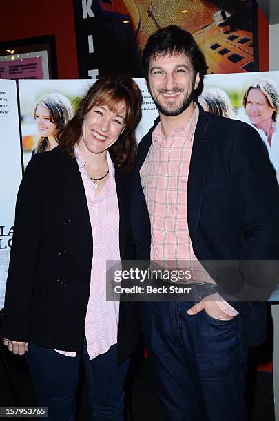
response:
[(0, 41), (54, 34), (59, 79), (77, 79), (72, 0), (0, 0)]

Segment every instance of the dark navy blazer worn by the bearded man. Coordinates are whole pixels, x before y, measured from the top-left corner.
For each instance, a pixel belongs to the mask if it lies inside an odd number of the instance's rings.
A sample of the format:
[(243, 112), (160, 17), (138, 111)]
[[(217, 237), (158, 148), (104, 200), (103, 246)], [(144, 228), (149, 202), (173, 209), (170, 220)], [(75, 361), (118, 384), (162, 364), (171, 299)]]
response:
[[(200, 261), (278, 259), (279, 188), (265, 145), (253, 127), (205, 113), (198, 106), (187, 186), (189, 234), (196, 257)], [(154, 127), (157, 123), (158, 119)], [(139, 170), (154, 127), (138, 146), (131, 206), (138, 259), (144, 260), (150, 258), (151, 230)], [(220, 284), (218, 276), (214, 279)], [(267, 274), (260, 281), (264, 285)], [(242, 342), (254, 346), (264, 341), (265, 303), (231, 304), (240, 312)]]

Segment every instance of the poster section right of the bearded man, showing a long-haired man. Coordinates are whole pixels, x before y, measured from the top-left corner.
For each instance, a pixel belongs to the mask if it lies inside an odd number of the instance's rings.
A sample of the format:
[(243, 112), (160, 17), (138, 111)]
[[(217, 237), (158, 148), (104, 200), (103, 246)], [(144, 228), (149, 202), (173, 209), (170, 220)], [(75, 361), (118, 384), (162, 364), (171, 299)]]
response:
[(223, 107), (221, 114), (247, 122), (258, 131), (279, 182), (279, 120), (274, 111), (279, 109), (279, 72), (205, 76), (200, 102), (207, 111)]

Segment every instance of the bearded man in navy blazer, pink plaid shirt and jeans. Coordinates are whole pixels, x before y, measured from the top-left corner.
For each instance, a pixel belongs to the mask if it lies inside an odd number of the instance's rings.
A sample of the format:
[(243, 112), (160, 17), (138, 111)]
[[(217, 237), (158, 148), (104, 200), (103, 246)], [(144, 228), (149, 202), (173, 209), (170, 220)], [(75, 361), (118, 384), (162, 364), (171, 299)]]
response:
[[(278, 259), (275, 174), (252, 127), (205, 113), (196, 102), (206, 68), (192, 35), (176, 26), (158, 30), (143, 50), (159, 119), (138, 147), (131, 213), (138, 259)], [(192, 301), (141, 303), (169, 420), (247, 419), (248, 347), (265, 340), (266, 316), (256, 298), (225, 301), (245, 290), (238, 274), (220, 270), (211, 279), (200, 270)], [(266, 281), (260, 277), (260, 288)]]

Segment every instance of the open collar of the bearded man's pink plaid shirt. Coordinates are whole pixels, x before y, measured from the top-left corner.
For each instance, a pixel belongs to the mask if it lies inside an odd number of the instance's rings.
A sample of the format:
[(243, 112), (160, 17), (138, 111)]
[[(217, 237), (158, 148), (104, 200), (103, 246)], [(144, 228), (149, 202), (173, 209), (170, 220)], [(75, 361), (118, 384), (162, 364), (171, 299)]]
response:
[[(196, 124), (198, 122), (198, 115), (199, 115), (199, 109), (198, 105), (194, 102), (195, 110), (192, 115), (192, 117), (187, 120), (184, 125), (180, 127), (176, 127), (174, 130), (172, 130), (171, 133), (169, 133), (169, 137), (174, 136), (176, 133), (184, 134), (189, 142), (192, 142), (194, 137), (194, 132), (196, 129)], [(162, 124), (161, 122), (158, 122), (158, 125), (156, 125), (154, 131), (152, 132), (152, 141), (153, 142), (160, 142), (161, 144), (164, 144), (167, 142), (167, 139), (165, 138), (163, 131), (162, 131)]]

